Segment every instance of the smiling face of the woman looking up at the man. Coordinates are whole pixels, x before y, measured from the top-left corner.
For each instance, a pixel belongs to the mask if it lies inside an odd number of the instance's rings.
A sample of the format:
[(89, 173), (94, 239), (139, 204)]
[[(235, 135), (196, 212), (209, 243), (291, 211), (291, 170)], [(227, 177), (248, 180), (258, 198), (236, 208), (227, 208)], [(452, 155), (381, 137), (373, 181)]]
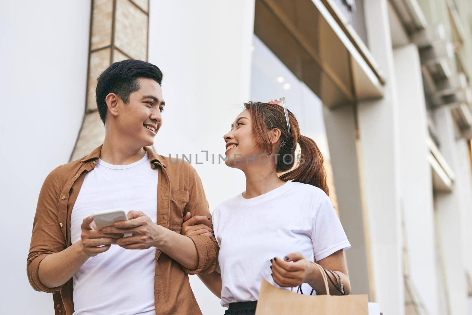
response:
[[(230, 167), (243, 168), (245, 164), (257, 163), (258, 153), (256, 142), (252, 135), (251, 114), (244, 110), (239, 114), (231, 130), (223, 136), (226, 142), (225, 156), (228, 157), (225, 164)], [(249, 162), (247, 162), (249, 158)], [(252, 158), (255, 157), (255, 160)]]

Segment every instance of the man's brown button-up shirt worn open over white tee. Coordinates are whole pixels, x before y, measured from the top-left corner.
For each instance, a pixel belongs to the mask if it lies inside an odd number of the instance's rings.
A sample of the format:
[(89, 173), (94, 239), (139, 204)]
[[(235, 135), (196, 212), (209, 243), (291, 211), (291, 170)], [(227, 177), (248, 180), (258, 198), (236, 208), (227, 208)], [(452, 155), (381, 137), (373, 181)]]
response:
[[(158, 167), (157, 224), (176, 233), (181, 232), (184, 214), (210, 216), (202, 182), (195, 169), (182, 160), (163, 157), (150, 147), (144, 148), (151, 168)], [(101, 146), (88, 156), (61, 165), (44, 181), (34, 216), (33, 235), (27, 260), (27, 274), (31, 286), (38, 291), (53, 293), (55, 314), (72, 315), (72, 278), (57, 288), (47, 288), (39, 280), (42, 259), (71, 246), (70, 217), (74, 203), (87, 172), (93, 172)], [(112, 183), (110, 183), (112, 184)], [(198, 267), (189, 270), (156, 249), (154, 275), (154, 305), (157, 315), (202, 314), (195, 300), (187, 274), (209, 274), (218, 267), (219, 247), (214, 238), (189, 236), (198, 253)], [(133, 301), (130, 301), (133, 303)]]

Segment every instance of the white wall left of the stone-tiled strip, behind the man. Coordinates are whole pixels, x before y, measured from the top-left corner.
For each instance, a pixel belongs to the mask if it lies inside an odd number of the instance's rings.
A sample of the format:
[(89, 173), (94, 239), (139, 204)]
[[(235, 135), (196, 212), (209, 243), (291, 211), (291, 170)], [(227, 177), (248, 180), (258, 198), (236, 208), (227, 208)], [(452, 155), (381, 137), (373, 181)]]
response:
[(0, 314), (51, 314), (26, 277), (42, 182), (68, 162), (82, 123), (90, 1), (0, 3)]

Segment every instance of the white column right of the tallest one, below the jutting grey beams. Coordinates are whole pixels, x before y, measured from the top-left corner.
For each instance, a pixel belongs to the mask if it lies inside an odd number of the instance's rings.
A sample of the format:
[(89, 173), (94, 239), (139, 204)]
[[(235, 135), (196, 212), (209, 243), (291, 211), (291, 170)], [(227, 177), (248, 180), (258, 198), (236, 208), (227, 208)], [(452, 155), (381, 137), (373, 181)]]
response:
[(427, 154), (426, 104), (418, 48), (409, 44), (394, 50), (402, 179), (402, 212), (410, 279), (428, 314), (438, 313), (434, 207), (431, 166)]

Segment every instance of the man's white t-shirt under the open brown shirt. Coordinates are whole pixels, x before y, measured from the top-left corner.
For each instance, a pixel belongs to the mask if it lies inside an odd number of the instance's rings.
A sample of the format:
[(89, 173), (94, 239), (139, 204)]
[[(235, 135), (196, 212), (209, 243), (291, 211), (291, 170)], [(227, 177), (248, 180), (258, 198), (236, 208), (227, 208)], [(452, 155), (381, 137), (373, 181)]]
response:
[[(98, 160), (85, 175), (71, 214), (71, 241), (80, 240), (80, 226), (96, 211), (122, 208), (142, 211), (157, 222), (158, 170), (149, 156), (132, 164)], [(154, 315), (156, 249), (124, 249), (116, 244), (90, 257), (74, 274), (74, 315)]]

